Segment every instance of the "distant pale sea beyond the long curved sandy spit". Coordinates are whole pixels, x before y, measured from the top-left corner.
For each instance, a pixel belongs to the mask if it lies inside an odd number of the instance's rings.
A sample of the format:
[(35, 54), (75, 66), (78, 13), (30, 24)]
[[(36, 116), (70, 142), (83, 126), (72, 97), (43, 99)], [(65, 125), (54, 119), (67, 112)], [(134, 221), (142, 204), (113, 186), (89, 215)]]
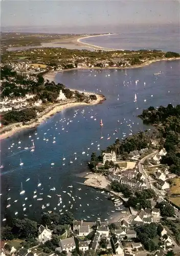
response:
[(84, 38), (81, 41), (113, 49), (180, 52), (179, 25), (120, 27), (117, 33), (119, 34)]

